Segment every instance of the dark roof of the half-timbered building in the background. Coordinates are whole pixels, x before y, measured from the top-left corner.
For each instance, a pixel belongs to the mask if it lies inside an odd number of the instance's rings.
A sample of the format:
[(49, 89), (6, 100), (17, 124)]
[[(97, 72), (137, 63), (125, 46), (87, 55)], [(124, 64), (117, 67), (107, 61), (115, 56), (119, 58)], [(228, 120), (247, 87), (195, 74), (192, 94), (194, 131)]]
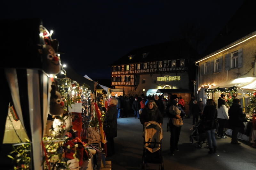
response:
[[(146, 55), (143, 58), (143, 54)], [(132, 56), (130, 60), (128, 56)], [(169, 41), (134, 49), (119, 58), (111, 66), (159, 61), (164, 59), (196, 58), (198, 53), (185, 40)]]

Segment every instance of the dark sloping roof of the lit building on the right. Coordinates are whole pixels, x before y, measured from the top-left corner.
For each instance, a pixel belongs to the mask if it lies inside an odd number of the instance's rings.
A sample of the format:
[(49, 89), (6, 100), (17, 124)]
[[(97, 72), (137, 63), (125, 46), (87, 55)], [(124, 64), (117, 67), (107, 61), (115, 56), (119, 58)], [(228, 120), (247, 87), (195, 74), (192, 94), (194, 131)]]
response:
[(253, 20), (256, 17), (255, 6), (255, 0), (246, 0), (205, 50), (202, 57), (256, 31), (256, 24)]

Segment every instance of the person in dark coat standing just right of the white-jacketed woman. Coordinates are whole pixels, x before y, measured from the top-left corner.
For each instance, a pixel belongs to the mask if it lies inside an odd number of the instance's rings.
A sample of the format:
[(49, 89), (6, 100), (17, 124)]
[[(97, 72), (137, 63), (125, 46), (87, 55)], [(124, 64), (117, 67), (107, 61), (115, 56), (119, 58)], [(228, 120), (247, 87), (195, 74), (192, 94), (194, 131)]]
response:
[(243, 117), (243, 109), (240, 105), (239, 98), (234, 98), (233, 104), (229, 108), (228, 115), (229, 125), (233, 129), (231, 143), (240, 145), (241, 143), (237, 142), (237, 134), (240, 128), (244, 128), (244, 123), (240, 120), (240, 118)]

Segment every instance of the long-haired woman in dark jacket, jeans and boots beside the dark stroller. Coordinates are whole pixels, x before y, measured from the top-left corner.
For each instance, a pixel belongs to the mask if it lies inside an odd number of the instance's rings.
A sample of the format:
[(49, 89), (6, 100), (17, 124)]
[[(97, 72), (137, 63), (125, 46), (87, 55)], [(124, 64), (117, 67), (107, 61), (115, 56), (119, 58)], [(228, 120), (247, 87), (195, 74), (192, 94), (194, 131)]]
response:
[(207, 99), (206, 106), (204, 107), (202, 121), (203, 128), (207, 132), (209, 154), (215, 153), (217, 149), (217, 143), (215, 139), (217, 108), (216, 103), (212, 99)]

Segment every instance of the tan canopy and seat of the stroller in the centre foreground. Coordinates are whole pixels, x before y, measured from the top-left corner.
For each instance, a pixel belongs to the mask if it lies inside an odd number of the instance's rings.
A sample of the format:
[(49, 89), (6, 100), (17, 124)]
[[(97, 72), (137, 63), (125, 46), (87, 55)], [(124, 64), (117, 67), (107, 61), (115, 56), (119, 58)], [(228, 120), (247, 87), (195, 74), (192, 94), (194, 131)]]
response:
[(156, 121), (149, 121), (143, 129), (144, 147), (151, 153), (161, 148), (163, 129)]

